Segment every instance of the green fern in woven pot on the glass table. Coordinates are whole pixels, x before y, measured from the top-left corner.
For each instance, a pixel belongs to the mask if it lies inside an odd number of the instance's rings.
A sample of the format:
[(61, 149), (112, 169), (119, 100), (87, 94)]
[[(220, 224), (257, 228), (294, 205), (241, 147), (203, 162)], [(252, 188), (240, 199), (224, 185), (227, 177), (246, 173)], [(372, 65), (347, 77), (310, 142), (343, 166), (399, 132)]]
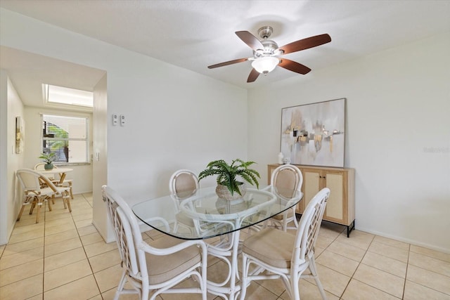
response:
[(260, 178), (260, 176), (258, 171), (249, 169), (252, 164), (255, 164), (255, 162), (244, 162), (242, 159), (234, 159), (231, 164), (227, 164), (223, 159), (214, 160), (198, 174), (198, 181), (208, 176), (217, 175), (217, 195), (222, 199), (236, 200), (245, 195), (243, 181), (259, 188), (257, 178)]

